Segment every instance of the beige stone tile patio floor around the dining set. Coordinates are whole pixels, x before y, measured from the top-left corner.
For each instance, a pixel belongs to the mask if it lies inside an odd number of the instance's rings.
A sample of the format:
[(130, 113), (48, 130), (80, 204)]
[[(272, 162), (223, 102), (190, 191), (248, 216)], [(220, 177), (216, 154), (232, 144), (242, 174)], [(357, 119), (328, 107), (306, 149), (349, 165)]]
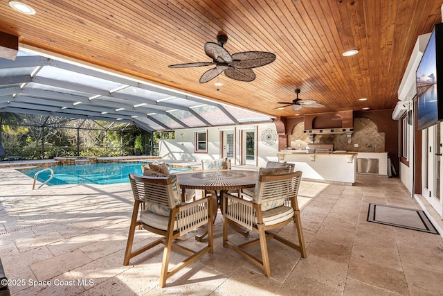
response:
[[(14, 169), (0, 169), (0, 258), (8, 279), (15, 280), (12, 295), (443, 293), (442, 236), (366, 221), (370, 202), (419, 209), (398, 178), (358, 175), (354, 186), (302, 181), (307, 258), (270, 241), (270, 278), (222, 247), (219, 214), (214, 254), (178, 272), (165, 288), (159, 288), (161, 246), (123, 265), (133, 204), (129, 183), (32, 186)], [(292, 223), (280, 234), (297, 241)], [(191, 248), (205, 243), (194, 235), (180, 239)], [(136, 232), (135, 247), (154, 237)], [(230, 239), (246, 238), (230, 231)], [(258, 246), (252, 252), (259, 254)], [(172, 263), (180, 259), (172, 253)]]

